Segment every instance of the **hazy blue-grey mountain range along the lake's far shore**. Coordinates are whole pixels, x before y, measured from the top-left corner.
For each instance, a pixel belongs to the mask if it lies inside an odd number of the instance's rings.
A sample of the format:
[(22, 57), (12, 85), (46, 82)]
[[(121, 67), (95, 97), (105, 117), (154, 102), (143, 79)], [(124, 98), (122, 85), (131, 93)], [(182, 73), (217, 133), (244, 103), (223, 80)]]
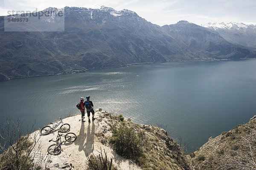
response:
[[(4, 32), (0, 17), (1, 81), (134, 63), (256, 58), (253, 31), (250, 41), (247, 33), (187, 21), (158, 26), (125, 9), (64, 10), (64, 32)], [(235, 35), (246, 40), (239, 43)]]

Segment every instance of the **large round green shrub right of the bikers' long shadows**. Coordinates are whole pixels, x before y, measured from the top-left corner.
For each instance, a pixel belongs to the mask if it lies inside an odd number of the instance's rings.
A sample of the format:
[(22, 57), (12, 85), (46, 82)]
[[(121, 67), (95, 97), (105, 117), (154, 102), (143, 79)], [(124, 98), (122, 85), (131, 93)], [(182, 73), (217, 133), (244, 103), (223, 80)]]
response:
[(117, 154), (134, 160), (142, 156), (143, 147), (145, 147), (145, 133), (136, 134), (134, 128), (126, 126), (120, 127), (119, 130), (114, 127), (112, 133), (110, 143)]

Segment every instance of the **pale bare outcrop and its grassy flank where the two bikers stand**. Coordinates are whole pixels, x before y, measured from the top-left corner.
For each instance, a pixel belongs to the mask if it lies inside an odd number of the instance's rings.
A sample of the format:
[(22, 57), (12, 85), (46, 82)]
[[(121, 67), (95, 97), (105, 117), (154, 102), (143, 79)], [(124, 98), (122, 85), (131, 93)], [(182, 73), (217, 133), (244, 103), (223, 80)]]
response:
[[(81, 122), (81, 115), (75, 115), (65, 118), (64, 123), (70, 124), (70, 132), (77, 135), (73, 143), (64, 143), (62, 151), (57, 156), (51, 156), (49, 168), (59, 170), (61, 167), (72, 164), (75, 170), (87, 169), (87, 157), (85, 154), (99, 155), (100, 149), (105, 150), (108, 158), (113, 158), (113, 165), (118, 170), (189, 170), (189, 165), (185, 156), (180, 151), (180, 146), (172, 138), (167, 136), (165, 130), (151, 125), (134, 124), (130, 121), (120, 121), (117, 116), (108, 112), (99, 112), (95, 114), (96, 120), (88, 124), (88, 121)], [(135, 161), (123, 158), (116, 154), (108, 142), (111, 133), (111, 127), (132, 127), (136, 133), (143, 132), (146, 136), (146, 148), (143, 156), (140, 157), (140, 165)], [(36, 131), (35, 133), (38, 133)], [(41, 136), (41, 153), (47, 154), (47, 147), (53, 142), (50, 139), (56, 138), (58, 132), (55, 131), (49, 135)], [(68, 169), (67, 168), (67, 169)], [(64, 168), (65, 169), (65, 168)]]

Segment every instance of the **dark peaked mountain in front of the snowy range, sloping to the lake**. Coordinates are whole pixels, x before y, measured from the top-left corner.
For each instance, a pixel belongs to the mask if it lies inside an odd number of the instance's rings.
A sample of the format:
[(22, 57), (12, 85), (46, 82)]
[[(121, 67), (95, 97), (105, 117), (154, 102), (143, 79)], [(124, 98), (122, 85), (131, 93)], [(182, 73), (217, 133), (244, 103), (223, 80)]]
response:
[(180, 42), (179, 46), (187, 51), (191, 59), (238, 59), (250, 56), (250, 50), (229, 43), (217, 32), (187, 21), (163, 28)]

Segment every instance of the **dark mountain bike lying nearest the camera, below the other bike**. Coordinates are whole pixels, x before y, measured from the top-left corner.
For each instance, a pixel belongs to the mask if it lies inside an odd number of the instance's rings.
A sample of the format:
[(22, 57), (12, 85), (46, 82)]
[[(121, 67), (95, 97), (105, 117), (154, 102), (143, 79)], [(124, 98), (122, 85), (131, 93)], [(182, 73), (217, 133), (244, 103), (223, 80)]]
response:
[[(65, 140), (68, 141), (68, 142), (73, 142), (76, 140), (76, 134), (75, 133), (67, 133), (66, 135), (63, 135), (63, 134), (60, 134), (59, 131), (58, 131), (58, 135), (57, 135), (57, 138), (56, 138), (56, 144), (52, 144), (48, 147), (47, 151), (49, 154), (51, 155), (58, 155), (59, 153), (61, 153), (61, 145), (63, 144), (64, 141), (61, 141), (61, 136), (64, 136), (65, 137)], [(50, 141), (53, 141), (52, 139), (49, 140)]]

